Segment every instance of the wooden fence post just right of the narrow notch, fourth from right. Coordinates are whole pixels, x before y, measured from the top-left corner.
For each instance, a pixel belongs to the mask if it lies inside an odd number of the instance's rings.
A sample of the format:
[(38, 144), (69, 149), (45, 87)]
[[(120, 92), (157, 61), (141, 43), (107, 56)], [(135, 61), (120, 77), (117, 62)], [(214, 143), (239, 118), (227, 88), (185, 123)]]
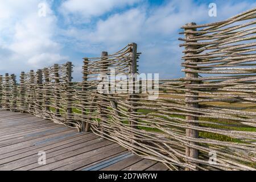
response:
[[(87, 90), (87, 72), (88, 72), (88, 59), (87, 58), (84, 58), (84, 67), (82, 68), (83, 72), (83, 76), (82, 76), (82, 94), (86, 93), (86, 90)], [(82, 95), (82, 97), (85, 97), (84, 95)], [(82, 115), (86, 115), (86, 104), (83, 103), (82, 104)], [(90, 129), (90, 123), (88, 122), (83, 122), (82, 121), (82, 131), (85, 131), (85, 132), (88, 132)]]

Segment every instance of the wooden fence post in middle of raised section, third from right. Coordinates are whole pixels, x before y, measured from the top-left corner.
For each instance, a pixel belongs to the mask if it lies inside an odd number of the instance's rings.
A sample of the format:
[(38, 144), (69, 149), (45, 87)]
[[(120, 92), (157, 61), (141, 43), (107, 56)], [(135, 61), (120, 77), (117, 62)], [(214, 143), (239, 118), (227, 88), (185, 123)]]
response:
[[(108, 57), (106, 57), (106, 56), (108, 56), (108, 52), (102, 51), (101, 52), (101, 60), (104, 61), (104, 62), (106, 60), (108, 60)], [(102, 74), (106, 75), (106, 73), (104, 73), (104, 72), (106, 72), (107, 70), (108, 70), (108, 63), (102, 63), (102, 65), (101, 65), (101, 72), (102, 72)], [(104, 80), (104, 79), (105, 79), (105, 77), (102, 77), (102, 80)], [(106, 85), (104, 84), (102, 90), (105, 90), (105, 86)], [(107, 89), (109, 89), (109, 88), (107, 88)], [(102, 93), (102, 96), (104, 96), (103, 93)], [(102, 99), (101, 101), (105, 102), (106, 100)], [(106, 114), (105, 113), (106, 112), (105, 109), (106, 109), (105, 106), (100, 105), (101, 123), (104, 123), (104, 119), (107, 118), (106, 115), (105, 115)], [(102, 127), (101, 127), (101, 134), (102, 135), (104, 134), (104, 129), (102, 129)]]

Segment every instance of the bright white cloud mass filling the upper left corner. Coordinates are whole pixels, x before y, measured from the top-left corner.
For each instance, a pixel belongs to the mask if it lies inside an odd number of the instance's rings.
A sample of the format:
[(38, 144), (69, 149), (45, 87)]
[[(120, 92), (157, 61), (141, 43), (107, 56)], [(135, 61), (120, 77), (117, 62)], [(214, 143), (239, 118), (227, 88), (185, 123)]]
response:
[[(27, 71), (59, 63), (61, 46), (54, 39), (56, 16), (46, 4), (46, 16), (38, 15), (42, 1), (0, 0), (0, 63), (2, 71)], [(1, 11), (1, 10), (5, 11)]]

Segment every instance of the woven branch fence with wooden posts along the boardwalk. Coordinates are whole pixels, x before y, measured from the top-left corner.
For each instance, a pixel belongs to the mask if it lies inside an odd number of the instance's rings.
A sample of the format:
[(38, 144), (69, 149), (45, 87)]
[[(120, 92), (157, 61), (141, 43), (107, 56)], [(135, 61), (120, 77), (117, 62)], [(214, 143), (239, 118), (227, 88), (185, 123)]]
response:
[[(131, 43), (113, 55), (84, 58), (82, 82), (72, 82), (71, 62), (22, 72), (19, 84), (15, 75), (0, 76), (0, 105), (91, 130), (171, 170), (255, 170), (255, 18), (252, 9), (183, 26), (185, 77), (147, 80), (159, 88), (154, 100), (133, 78), (140, 53)], [(104, 82), (113, 69), (126, 78)], [(98, 92), (113, 82), (126, 92)]]

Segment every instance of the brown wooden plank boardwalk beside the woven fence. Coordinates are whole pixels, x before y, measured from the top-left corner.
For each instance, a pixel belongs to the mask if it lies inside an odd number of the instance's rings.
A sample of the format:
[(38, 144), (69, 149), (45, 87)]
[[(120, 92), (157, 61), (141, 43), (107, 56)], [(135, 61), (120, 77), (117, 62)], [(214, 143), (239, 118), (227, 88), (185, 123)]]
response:
[[(46, 164), (38, 164), (40, 151)], [(0, 110), (0, 170), (167, 170), (93, 133)]]

